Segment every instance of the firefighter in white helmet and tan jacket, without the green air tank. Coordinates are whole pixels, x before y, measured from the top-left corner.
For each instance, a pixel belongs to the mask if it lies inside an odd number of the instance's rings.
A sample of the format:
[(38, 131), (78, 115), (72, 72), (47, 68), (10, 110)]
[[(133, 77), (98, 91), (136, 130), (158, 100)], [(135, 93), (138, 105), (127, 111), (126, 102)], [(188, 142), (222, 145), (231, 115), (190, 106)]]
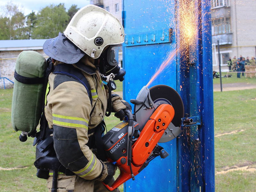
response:
[[(73, 65), (87, 79), (92, 93), (91, 103), (85, 86), (76, 79), (53, 73), (49, 76), (45, 117), (53, 129), (57, 158), (73, 173), (58, 174), (57, 191), (108, 191), (102, 181), (113, 183), (116, 166), (98, 158), (96, 147), (100, 146), (95, 145), (95, 133), (96, 129), (102, 133), (102, 120), (108, 108), (108, 87), (101, 79), (104, 68), (118, 63), (112, 47), (123, 42), (120, 21), (106, 10), (88, 5), (74, 15), (63, 34), (44, 43), (44, 52), (52, 58), (54, 66)], [(110, 93), (109, 99), (115, 116), (124, 119), (124, 109), (131, 110), (130, 104), (114, 93)], [(51, 191), (51, 171), (47, 182)]]

